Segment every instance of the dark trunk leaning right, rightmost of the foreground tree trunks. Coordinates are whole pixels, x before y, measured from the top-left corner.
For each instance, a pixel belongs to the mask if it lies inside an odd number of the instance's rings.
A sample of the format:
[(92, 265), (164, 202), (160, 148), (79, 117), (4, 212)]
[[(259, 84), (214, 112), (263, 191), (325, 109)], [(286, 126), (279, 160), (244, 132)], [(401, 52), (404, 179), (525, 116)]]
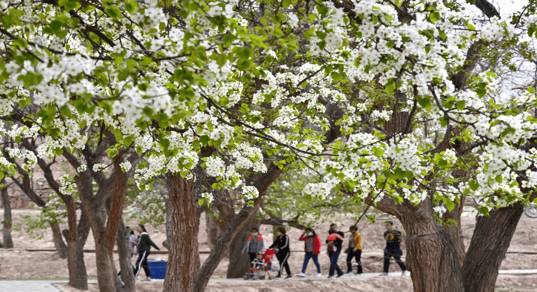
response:
[(494, 292), (505, 252), (511, 243), (524, 206), (516, 204), (477, 216), (462, 276), (466, 292)]

